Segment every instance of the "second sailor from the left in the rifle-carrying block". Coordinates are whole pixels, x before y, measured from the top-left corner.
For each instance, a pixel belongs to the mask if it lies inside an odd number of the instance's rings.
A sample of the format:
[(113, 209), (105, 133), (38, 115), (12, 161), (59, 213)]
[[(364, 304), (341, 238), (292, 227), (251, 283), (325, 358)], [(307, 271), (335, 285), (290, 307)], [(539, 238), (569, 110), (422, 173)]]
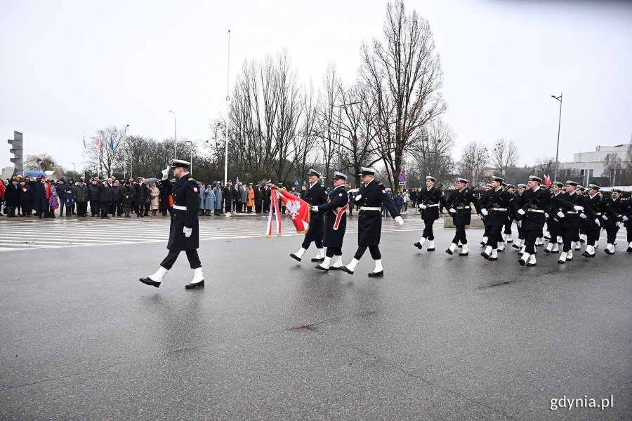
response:
[(452, 198), (448, 203), (448, 206), (450, 206), (448, 211), (452, 214), (452, 221), (456, 227), (456, 234), (454, 235), (454, 239), (452, 239), (452, 244), (450, 244), (449, 248), (445, 250), (445, 253), (448, 253), (449, 255), (454, 253), (459, 241), (461, 241), (461, 244), (463, 245), (463, 249), (461, 250), (461, 253), (459, 253), (459, 256), (467, 256), (470, 254), (468, 250), (468, 239), (465, 227), (466, 225), (470, 225), (470, 221), (472, 220), (472, 209), (470, 207), (470, 203), (474, 203), (474, 207), (479, 215), (480, 203), (478, 203), (478, 199), (475, 198), (473, 192), (468, 187), (468, 182), (470, 182), (470, 180), (466, 178), (456, 178), (456, 181), (454, 182), (456, 190), (452, 193)]

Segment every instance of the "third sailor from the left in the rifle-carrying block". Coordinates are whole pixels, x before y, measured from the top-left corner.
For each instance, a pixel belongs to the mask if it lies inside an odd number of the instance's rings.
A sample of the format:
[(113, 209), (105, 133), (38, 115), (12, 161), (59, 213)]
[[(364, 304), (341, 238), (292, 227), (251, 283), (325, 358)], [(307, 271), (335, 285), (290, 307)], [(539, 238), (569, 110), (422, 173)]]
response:
[(489, 230), (485, 250), (480, 255), (487, 260), (498, 260), (498, 246), (503, 243), (503, 227), (509, 220), (509, 215), (518, 211), (513, 194), (503, 189), (502, 183), (502, 178), (492, 177), (491, 188), (480, 199), (480, 213)]

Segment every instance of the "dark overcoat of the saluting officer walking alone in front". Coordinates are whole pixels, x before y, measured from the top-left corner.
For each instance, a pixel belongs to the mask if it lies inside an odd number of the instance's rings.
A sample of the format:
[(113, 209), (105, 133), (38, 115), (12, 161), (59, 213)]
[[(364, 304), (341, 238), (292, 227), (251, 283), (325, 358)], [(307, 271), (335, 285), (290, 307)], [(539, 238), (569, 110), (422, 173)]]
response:
[[(167, 248), (171, 251), (199, 248), (199, 224), (197, 219), (199, 204), (198, 182), (189, 174), (183, 175), (173, 185), (171, 196), (173, 196), (173, 213), (171, 213), (171, 227), (169, 228)], [(185, 206), (187, 210), (176, 209), (176, 206)], [(185, 237), (184, 227), (193, 229), (191, 236)]]

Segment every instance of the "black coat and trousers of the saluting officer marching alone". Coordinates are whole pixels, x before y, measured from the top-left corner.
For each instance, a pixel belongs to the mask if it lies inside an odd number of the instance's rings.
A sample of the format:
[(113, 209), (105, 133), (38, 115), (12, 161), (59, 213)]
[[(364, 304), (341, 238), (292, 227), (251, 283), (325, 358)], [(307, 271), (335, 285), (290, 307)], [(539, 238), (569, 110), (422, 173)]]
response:
[[(163, 180), (163, 182), (169, 181)], [(171, 214), (169, 242), (167, 243), (169, 254), (164, 258), (160, 266), (165, 269), (171, 269), (178, 255), (180, 255), (180, 251), (184, 251), (187, 253), (191, 269), (197, 269), (202, 267), (197, 255), (197, 249), (199, 248), (198, 182), (188, 173), (183, 175), (173, 185), (171, 196), (173, 196), (173, 213)], [(184, 227), (192, 228), (189, 237), (185, 236), (183, 232)]]

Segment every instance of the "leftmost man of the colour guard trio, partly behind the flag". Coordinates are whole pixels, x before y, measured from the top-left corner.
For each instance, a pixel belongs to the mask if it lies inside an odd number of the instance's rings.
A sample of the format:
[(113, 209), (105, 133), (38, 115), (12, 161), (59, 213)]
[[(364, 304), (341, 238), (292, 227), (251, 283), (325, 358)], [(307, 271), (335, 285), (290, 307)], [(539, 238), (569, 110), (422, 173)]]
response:
[[(320, 178), (322, 175), (311, 168), (307, 175), (310, 187), (307, 189), (307, 192), (305, 192), (305, 198), (303, 200), (309, 204), (310, 209), (313, 206), (324, 205), (327, 203), (327, 190), (320, 185)], [(305, 250), (310, 247), (310, 244), (313, 241), (318, 250), (318, 254), (315, 258), (312, 258), (312, 262), (324, 261), (324, 249), (322, 248), (322, 217), (322, 213), (310, 210), (310, 227), (308, 228), (308, 232), (305, 233), (305, 238), (303, 239), (301, 248), (299, 248), (296, 253), (290, 253), (291, 258), (300, 262)]]

